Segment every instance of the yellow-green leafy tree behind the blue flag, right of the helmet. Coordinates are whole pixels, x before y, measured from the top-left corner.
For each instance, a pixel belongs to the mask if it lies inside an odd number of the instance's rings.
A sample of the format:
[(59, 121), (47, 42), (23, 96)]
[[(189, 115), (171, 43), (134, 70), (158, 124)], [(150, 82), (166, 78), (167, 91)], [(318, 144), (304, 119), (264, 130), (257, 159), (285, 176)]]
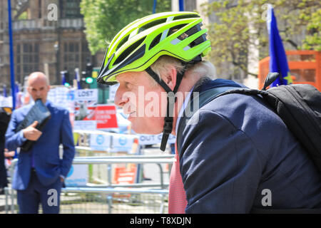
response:
[[(215, 22), (207, 26), (212, 42), (210, 58), (218, 74), (223, 74), (226, 63), (231, 63), (234, 71), (256, 76), (256, 72), (248, 72), (248, 47), (252, 45), (259, 48), (260, 58), (268, 56), (266, 3), (263, 0), (218, 0), (203, 4), (208, 16), (215, 18)], [(320, 1), (271, 0), (268, 3), (274, 8), (286, 49), (320, 51)], [(297, 37), (302, 38), (297, 40)]]

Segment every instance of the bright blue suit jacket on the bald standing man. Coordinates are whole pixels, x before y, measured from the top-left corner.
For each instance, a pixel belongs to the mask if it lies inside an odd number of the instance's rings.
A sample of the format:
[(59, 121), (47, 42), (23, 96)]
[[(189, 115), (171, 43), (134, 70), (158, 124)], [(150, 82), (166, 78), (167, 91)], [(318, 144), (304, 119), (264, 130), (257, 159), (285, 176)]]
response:
[[(46, 102), (51, 112), (51, 119), (42, 130), (42, 135), (34, 143), (31, 150), (19, 152), (19, 160), (14, 171), (12, 187), (16, 190), (25, 190), (31, 176), (31, 159), (34, 157), (34, 167), (40, 182), (51, 185), (60, 175), (67, 176), (75, 155), (73, 135), (68, 110)], [(29, 112), (32, 105), (26, 105), (14, 110), (6, 130), (6, 148), (16, 150), (25, 141), (22, 130), (15, 133), (19, 123)], [(63, 145), (62, 159), (59, 157), (59, 145)]]

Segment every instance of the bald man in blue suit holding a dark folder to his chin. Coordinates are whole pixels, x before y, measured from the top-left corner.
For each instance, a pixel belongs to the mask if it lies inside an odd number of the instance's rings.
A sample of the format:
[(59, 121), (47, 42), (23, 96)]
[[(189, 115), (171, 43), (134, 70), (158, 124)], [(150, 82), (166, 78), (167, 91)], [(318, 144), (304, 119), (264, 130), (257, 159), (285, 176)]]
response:
[[(63, 180), (67, 176), (75, 155), (73, 135), (68, 110), (47, 100), (49, 79), (41, 72), (34, 72), (28, 78), (28, 92), (34, 100), (41, 99), (51, 112), (51, 119), (42, 131), (36, 129), (36, 121), (29, 127), (16, 132), (32, 105), (14, 110), (6, 130), (6, 148), (16, 150), (33, 140), (30, 150), (20, 150), (14, 171), (12, 187), (17, 190), (21, 213), (34, 214), (41, 203), (44, 213), (58, 213)], [(59, 145), (63, 155), (59, 155)]]

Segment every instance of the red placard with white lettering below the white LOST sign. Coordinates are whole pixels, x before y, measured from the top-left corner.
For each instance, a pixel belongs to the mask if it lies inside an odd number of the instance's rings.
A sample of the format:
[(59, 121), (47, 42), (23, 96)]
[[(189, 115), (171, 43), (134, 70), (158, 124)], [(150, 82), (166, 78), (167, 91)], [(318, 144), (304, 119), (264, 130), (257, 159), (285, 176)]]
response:
[(118, 128), (115, 105), (97, 105), (95, 108), (95, 117), (97, 129)]

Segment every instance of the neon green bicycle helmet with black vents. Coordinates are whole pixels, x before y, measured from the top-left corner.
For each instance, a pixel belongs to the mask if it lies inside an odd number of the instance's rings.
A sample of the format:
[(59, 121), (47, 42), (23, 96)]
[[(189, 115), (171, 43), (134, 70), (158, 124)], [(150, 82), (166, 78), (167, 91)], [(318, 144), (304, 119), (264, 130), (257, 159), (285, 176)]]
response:
[(116, 76), (127, 71), (145, 71), (160, 56), (167, 55), (190, 62), (210, 51), (207, 29), (195, 12), (164, 12), (133, 21), (111, 41), (98, 83), (113, 85)]

